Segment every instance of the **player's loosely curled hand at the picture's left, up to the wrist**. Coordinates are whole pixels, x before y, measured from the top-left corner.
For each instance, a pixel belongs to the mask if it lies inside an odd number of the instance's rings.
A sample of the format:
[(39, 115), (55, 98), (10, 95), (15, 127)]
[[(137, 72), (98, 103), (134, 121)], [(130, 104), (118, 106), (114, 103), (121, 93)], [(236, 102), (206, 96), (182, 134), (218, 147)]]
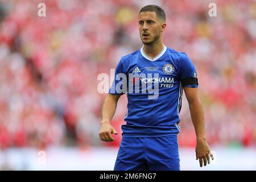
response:
[(115, 139), (111, 134), (117, 135), (118, 133), (110, 122), (101, 122), (101, 129), (99, 133), (100, 139), (105, 142), (113, 142)]

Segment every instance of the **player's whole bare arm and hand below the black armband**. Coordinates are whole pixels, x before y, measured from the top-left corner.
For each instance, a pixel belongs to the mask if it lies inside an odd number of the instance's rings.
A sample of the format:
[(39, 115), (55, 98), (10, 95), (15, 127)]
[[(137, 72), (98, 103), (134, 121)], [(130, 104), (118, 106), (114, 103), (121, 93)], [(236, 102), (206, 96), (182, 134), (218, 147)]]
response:
[(210, 164), (210, 157), (213, 160), (213, 155), (205, 137), (204, 110), (199, 98), (199, 90), (185, 86), (184, 92), (196, 131), (196, 160), (199, 159), (200, 167), (203, 167), (203, 162), (204, 166), (207, 166), (207, 161)]

